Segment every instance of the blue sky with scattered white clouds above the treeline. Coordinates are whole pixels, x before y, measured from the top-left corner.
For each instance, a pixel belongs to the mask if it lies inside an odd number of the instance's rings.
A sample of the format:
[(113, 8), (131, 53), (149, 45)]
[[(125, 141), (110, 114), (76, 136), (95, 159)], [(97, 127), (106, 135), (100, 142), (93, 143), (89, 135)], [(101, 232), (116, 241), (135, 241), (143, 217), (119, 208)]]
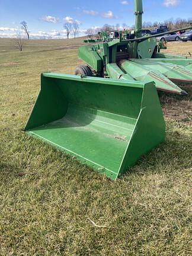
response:
[[(14, 36), (20, 22), (27, 21), (33, 37), (65, 37), (66, 20), (79, 23), (79, 34), (89, 27), (108, 23), (134, 24), (133, 0), (0, 0), (0, 37)], [(143, 21), (164, 21), (169, 18), (192, 18), (191, 0), (143, 0)]]

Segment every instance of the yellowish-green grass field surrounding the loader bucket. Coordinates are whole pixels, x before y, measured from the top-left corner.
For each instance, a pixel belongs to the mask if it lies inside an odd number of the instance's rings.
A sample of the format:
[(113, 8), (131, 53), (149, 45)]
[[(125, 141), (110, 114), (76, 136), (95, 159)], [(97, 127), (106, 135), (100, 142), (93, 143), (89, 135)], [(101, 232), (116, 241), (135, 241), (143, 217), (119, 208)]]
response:
[(165, 142), (116, 182), (22, 132), (40, 73), (73, 73), (81, 41), (0, 39), (0, 255), (192, 255), (190, 85), (160, 95)]

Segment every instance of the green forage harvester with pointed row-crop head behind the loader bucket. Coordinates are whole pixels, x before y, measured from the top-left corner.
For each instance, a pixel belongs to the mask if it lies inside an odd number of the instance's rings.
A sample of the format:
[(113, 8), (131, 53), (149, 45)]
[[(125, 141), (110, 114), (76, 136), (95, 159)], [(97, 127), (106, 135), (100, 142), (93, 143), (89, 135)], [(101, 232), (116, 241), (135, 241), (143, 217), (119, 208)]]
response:
[(167, 42), (156, 40), (156, 37), (176, 33), (181, 28), (142, 36), (142, 14), (142, 0), (135, 0), (134, 34), (122, 32), (119, 39), (110, 40), (104, 33), (102, 43), (95, 41), (93, 45), (80, 47), (78, 57), (86, 65), (78, 66), (75, 74), (144, 83), (153, 81), (158, 90), (187, 94), (177, 84), (192, 81), (192, 59), (161, 53), (161, 49), (167, 48)]

